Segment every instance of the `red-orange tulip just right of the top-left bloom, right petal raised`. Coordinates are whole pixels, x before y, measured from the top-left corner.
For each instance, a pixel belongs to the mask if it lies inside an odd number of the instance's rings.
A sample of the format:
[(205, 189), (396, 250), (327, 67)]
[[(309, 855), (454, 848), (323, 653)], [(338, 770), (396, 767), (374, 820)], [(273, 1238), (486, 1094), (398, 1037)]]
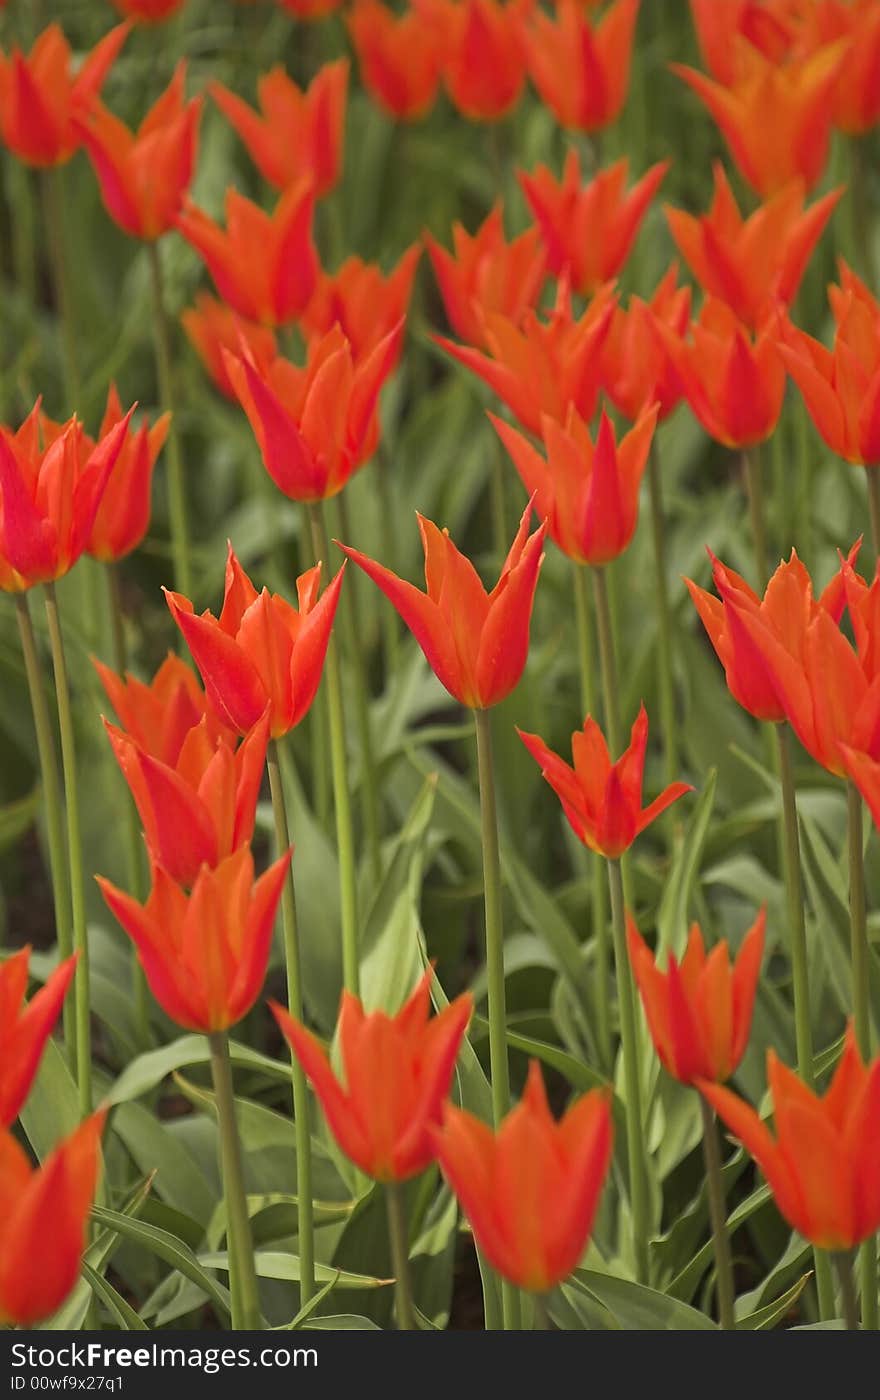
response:
[(186, 63), (137, 132), (94, 101), (80, 120), (106, 210), (133, 238), (154, 241), (173, 228), (196, 168), (201, 98), (186, 102)]

